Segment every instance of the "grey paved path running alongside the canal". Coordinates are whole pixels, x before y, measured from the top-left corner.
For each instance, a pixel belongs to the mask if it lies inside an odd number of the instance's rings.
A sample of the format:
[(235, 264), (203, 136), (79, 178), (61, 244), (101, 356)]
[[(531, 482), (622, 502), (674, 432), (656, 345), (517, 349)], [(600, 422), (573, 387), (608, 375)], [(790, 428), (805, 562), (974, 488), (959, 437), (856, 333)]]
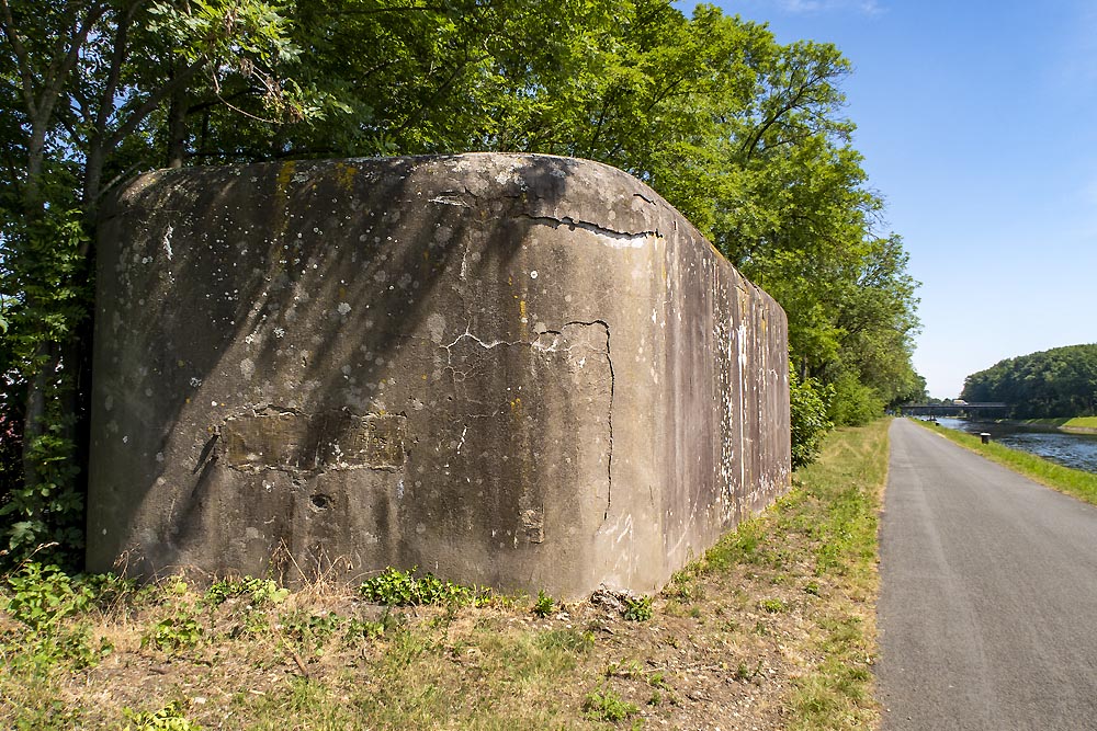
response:
[(883, 731), (1097, 729), (1097, 509), (891, 427)]

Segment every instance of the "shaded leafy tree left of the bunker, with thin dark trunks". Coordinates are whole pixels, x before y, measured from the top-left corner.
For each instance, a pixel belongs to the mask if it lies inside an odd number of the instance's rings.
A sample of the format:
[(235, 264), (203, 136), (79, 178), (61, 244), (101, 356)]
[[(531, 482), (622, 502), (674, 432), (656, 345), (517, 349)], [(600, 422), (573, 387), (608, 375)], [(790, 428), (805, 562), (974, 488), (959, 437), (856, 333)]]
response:
[(136, 171), (182, 163), (179, 118), (199, 100), (304, 114), (307, 95), (278, 76), (296, 54), (287, 33), (273, 4), (253, 0), (0, 0), (0, 363), (22, 468), (20, 480), (4, 468), (11, 548), (53, 540), (71, 556), (81, 545), (79, 427), (105, 194)]

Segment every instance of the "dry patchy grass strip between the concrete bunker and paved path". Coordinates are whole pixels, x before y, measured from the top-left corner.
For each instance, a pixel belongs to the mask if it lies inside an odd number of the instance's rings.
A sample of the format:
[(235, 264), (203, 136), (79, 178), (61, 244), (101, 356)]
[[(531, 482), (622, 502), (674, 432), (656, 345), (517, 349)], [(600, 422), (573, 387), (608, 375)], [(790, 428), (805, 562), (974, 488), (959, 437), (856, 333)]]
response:
[(835, 433), (649, 599), (24, 566), (0, 576), (0, 728), (871, 727), (886, 459), (886, 423)]

